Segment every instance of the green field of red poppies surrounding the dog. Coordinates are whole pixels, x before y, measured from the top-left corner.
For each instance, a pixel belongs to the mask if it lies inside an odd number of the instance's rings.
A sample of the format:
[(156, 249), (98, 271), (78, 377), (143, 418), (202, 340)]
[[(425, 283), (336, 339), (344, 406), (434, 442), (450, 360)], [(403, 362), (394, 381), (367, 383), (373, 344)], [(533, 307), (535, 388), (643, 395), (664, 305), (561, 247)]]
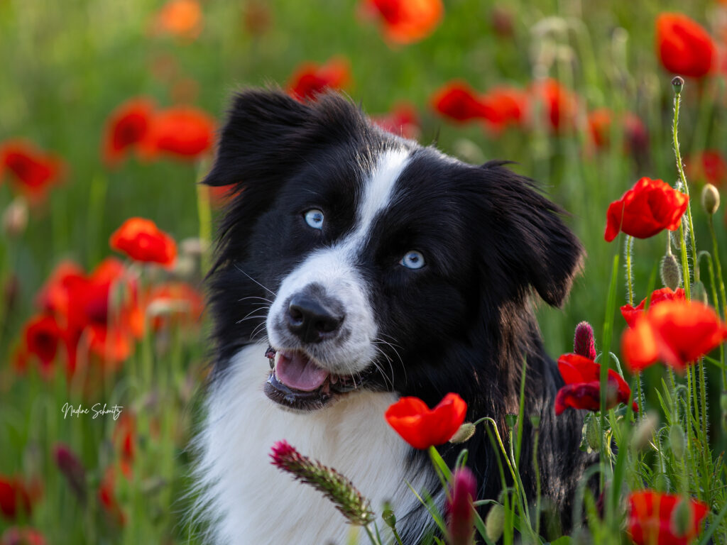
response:
[[(198, 182), (245, 86), (340, 89), (539, 181), (587, 251), (563, 309), (537, 305), (553, 411), (587, 413), (601, 453), (553, 543), (727, 543), (727, 2), (0, 0), (0, 62), (0, 545), (204, 543), (204, 275), (235, 187)], [(452, 393), (386, 418), (439, 467), (491, 424), (465, 411)], [(489, 431), (506, 493), (439, 467), (428, 543), (550, 539), (513, 428)], [(344, 501), (356, 483), (284, 440), (273, 463)], [(354, 492), (337, 506), (377, 542), (395, 521)]]

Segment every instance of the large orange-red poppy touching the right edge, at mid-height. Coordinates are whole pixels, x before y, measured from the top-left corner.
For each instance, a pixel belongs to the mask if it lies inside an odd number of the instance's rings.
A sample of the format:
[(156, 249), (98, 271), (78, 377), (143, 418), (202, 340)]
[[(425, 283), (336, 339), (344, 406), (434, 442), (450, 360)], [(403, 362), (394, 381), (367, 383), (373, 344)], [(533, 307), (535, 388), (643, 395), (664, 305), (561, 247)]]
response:
[(638, 371), (662, 360), (678, 370), (727, 339), (727, 325), (699, 302), (664, 301), (624, 331), (621, 349), (627, 366)]

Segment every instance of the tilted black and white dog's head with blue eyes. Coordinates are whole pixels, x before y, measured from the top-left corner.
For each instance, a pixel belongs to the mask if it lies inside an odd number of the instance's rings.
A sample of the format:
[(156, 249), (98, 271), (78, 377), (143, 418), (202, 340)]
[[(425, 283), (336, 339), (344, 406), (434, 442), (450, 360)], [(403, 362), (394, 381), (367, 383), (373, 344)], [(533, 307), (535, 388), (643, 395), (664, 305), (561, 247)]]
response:
[(265, 392), (288, 408), (432, 387), (446, 350), (530, 316), (533, 289), (560, 305), (582, 259), (529, 179), (389, 134), (337, 94), (238, 94), (205, 182), (238, 190), (212, 273), (218, 371), (267, 336)]

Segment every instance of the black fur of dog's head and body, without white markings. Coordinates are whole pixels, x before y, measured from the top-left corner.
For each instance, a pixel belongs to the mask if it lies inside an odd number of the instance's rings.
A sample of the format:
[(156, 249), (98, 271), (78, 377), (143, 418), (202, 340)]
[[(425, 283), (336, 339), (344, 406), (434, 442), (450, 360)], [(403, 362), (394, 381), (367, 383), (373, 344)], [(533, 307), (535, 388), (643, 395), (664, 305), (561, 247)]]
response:
[[(382, 150), (395, 147), (410, 150), (411, 161), (357, 265), (372, 286), (380, 331), (398, 353), (382, 347), (395, 365), (384, 362), (390, 375), (372, 375), (367, 387), (415, 395), (430, 406), (457, 392), (467, 401), (468, 420), (493, 417), (505, 439), (505, 415), (519, 411), (526, 362), (523, 484), (534, 498), (528, 416), (538, 415), (542, 491), (567, 527), (577, 479), (593, 460), (578, 449), (581, 417), (554, 415), (563, 383), (543, 349), (531, 298), (563, 304), (583, 249), (561, 210), (504, 163), (472, 166), (395, 137), (336, 94), (307, 104), (281, 92), (238, 94), (205, 180), (240, 190), (222, 219), (209, 283), (215, 376), (262, 321), (240, 321), (260, 307), (243, 298), (270, 297), (266, 288), (276, 291), (305, 254), (348, 233), (366, 174)], [(328, 227), (317, 236), (298, 227), (313, 205), (328, 210)], [(411, 248), (426, 249), (427, 267), (395, 266)], [(465, 445), (446, 445), (441, 453), (452, 464), (462, 446), (480, 498), (497, 498), (497, 451), (484, 426)], [(411, 451), (409, 463), (424, 470), (429, 461)], [(406, 520), (400, 525), (411, 535)]]

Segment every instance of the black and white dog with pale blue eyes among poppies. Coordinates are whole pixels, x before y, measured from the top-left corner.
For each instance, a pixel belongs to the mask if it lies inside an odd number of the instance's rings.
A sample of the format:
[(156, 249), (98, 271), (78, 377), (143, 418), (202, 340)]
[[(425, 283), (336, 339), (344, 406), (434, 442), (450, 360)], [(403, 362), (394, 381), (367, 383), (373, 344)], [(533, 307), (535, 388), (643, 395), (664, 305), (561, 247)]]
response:
[[(505, 435), (524, 360), (542, 490), (569, 517), (587, 462), (581, 421), (555, 418), (562, 382), (531, 296), (560, 305), (583, 251), (560, 209), (502, 164), (473, 166), (384, 132), (337, 94), (235, 97), (205, 180), (238, 187), (210, 281), (217, 358), (198, 475), (212, 542), (347, 542), (329, 501), (270, 464), (285, 439), (348, 476), (379, 512), (390, 501), (404, 543), (419, 543), (432, 522), (406, 481), (441, 506), (444, 493), (386, 408), (401, 395), (433, 406), (457, 392), (468, 420), (491, 416)], [(526, 418), (529, 497), (532, 436)], [(464, 446), (479, 497), (497, 498), (485, 431)], [(452, 464), (461, 448), (441, 453)]]

